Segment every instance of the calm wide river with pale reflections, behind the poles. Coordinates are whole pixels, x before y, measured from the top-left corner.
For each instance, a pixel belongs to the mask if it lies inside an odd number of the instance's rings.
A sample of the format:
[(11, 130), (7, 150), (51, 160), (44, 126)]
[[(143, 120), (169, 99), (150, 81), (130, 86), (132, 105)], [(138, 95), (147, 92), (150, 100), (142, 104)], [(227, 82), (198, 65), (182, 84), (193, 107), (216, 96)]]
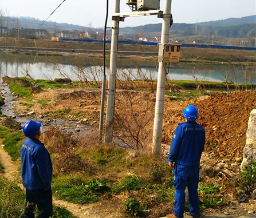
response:
[[(6, 62), (6, 60), (8, 60)], [(73, 81), (86, 77), (88, 80), (101, 80), (103, 67), (101, 59), (95, 57), (37, 57), (0, 55), (0, 76), (23, 77), (27, 73), (34, 79), (69, 77)], [(119, 60), (118, 76), (120, 80), (157, 79), (158, 65), (154, 61)], [(131, 67), (130, 67), (131, 66)], [(125, 67), (125, 70), (124, 70)], [(166, 69), (170, 80), (232, 81), (237, 84), (256, 84), (256, 70), (245, 66), (211, 64), (174, 64)], [(108, 69), (107, 72), (108, 74)], [(108, 77), (107, 77), (108, 78)], [(247, 81), (245, 81), (245, 78)]]

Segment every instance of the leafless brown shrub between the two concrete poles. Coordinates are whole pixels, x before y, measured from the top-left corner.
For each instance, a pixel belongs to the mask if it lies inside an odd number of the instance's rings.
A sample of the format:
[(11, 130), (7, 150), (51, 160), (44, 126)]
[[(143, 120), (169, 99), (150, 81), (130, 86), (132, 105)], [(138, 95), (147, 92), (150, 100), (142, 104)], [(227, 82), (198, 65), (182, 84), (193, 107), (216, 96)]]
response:
[(144, 92), (142, 95), (136, 91), (123, 90), (118, 93), (121, 98), (118, 110), (115, 112), (115, 129), (113, 135), (121, 140), (126, 146), (133, 149), (141, 149), (151, 140), (151, 135), (145, 130), (145, 126), (153, 118), (152, 107), (155, 100), (151, 93)]

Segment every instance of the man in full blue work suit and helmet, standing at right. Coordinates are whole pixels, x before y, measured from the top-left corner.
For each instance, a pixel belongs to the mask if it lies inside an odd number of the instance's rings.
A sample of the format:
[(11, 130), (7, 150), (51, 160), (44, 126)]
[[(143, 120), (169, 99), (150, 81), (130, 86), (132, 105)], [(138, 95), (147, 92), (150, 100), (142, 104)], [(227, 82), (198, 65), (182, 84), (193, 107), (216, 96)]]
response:
[(174, 214), (168, 218), (183, 218), (185, 189), (188, 188), (190, 216), (199, 217), (199, 164), (205, 144), (205, 130), (195, 120), (198, 109), (189, 105), (183, 110), (185, 122), (179, 124), (172, 137), (168, 162), (174, 168)]

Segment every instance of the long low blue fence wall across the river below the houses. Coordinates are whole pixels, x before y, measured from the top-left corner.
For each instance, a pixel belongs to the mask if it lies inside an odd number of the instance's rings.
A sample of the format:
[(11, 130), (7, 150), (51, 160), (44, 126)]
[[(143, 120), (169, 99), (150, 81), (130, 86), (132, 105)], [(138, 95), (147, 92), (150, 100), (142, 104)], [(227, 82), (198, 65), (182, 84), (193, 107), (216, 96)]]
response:
[[(58, 39), (59, 41), (73, 41), (73, 42), (101, 42), (103, 40), (94, 39)], [(111, 43), (111, 41), (106, 41), (106, 43)], [(130, 45), (158, 45), (157, 42), (136, 42), (136, 41), (119, 41), (121, 44)], [(200, 45), (200, 44), (182, 44), (182, 47), (203, 47), (212, 49), (239, 49), (239, 50), (255, 50), (255, 47), (239, 47), (239, 46), (224, 46), (224, 45)]]

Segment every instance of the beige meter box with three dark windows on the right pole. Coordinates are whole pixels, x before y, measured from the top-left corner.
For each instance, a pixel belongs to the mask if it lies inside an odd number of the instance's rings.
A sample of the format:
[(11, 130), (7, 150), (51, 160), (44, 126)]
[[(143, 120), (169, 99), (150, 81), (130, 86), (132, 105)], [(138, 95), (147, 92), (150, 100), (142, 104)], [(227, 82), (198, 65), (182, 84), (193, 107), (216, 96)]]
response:
[(176, 43), (159, 43), (158, 62), (171, 63), (180, 61), (180, 47)]

